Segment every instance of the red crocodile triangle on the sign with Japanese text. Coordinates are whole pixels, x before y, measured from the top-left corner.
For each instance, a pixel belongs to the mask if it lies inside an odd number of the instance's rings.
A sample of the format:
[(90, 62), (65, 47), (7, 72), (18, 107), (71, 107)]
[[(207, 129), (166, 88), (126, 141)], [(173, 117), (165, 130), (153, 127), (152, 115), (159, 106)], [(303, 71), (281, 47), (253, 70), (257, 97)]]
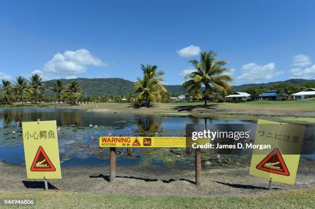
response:
[(290, 176), (289, 170), (278, 148), (272, 150), (271, 153), (256, 166), (256, 168), (273, 174)]

